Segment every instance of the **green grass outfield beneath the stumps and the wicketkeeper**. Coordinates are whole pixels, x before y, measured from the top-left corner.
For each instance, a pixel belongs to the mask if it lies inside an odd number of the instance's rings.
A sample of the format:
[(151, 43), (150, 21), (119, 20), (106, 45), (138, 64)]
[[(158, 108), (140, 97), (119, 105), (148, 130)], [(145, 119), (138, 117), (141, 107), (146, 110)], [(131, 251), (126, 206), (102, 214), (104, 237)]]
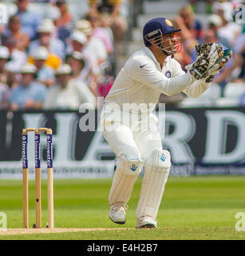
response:
[[(128, 202), (127, 222), (109, 220), (111, 179), (54, 180), (54, 223), (59, 228), (124, 228), (59, 234), (1, 235), (2, 239), (245, 239), (235, 214), (245, 213), (245, 176), (170, 177), (158, 213), (158, 228), (136, 230), (141, 179)], [(46, 181), (42, 181), (42, 223), (47, 221)], [(0, 212), (8, 228), (22, 228), (22, 182), (0, 181)], [(30, 181), (30, 224), (35, 221), (34, 181)], [(245, 222), (245, 220), (243, 220)], [(244, 223), (245, 226), (245, 223)]]

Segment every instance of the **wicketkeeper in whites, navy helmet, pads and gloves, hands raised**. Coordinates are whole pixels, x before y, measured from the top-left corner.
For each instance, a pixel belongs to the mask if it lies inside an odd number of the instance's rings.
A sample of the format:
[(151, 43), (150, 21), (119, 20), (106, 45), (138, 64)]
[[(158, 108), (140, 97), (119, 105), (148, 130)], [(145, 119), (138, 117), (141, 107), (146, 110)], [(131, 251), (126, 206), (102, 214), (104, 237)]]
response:
[(215, 74), (231, 58), (231, 50), (215, 43), (196, 46), (196, 61), (181, 69), (173, 57), (180, 38), (167, 18), (153, 18), (144, 25), (145, 47), (132, 54), (105, 98), (101, 114), (104, 136), (117, 155), (109, 192), (109, 218), (126, 222), (127, 202), (143, 166), (144, 177), (136, 208), (136, 228), (156, 228), (171, 157), (163, 150), (158, 119), (152, 114), (160, 94), (203, 94)]

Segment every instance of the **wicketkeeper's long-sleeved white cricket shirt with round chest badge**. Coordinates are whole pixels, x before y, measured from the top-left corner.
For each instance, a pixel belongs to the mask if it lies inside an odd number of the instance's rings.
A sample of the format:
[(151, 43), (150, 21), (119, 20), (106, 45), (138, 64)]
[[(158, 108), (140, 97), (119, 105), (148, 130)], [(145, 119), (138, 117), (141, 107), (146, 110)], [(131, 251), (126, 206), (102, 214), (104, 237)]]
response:
[(196, 98), (208, 86), (209, 83), (196, 81), (191, 74), (185, 74), (180, 63), (170, 56), (165, 59), (161, 70), (152, 51), (144, 47), (128, 58), (105, 98), (105, 106), (117, 103), (123, 108), (124, 103), (146, 103), (151, 111), (160, 94), (171, 96), (184, 91)]

